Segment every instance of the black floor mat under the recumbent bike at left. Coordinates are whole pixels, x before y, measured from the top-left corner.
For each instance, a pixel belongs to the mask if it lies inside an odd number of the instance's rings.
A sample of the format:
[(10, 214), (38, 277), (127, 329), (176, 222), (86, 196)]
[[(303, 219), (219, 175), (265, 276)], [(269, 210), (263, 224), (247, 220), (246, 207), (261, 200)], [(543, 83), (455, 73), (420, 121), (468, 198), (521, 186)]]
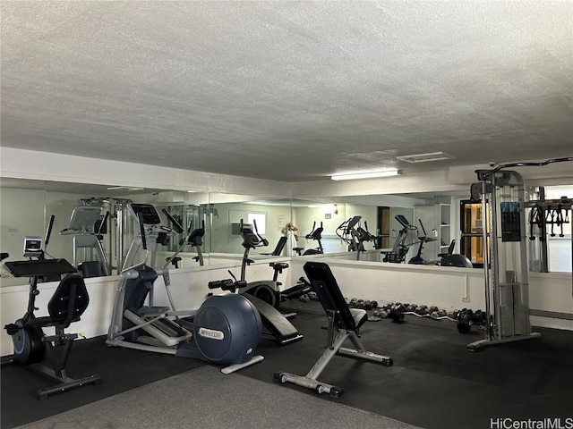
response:
[(53, 385), (52, 381), (20, 365), (2, 366), (0, 427), (6, 429), (53, 416), (202, 365), (192, 359), (109, 348), (104, 337), (76, 341), (69, 360), (69, 376), (99, 374), (101, 383), (37, 400), (38, 389)]

